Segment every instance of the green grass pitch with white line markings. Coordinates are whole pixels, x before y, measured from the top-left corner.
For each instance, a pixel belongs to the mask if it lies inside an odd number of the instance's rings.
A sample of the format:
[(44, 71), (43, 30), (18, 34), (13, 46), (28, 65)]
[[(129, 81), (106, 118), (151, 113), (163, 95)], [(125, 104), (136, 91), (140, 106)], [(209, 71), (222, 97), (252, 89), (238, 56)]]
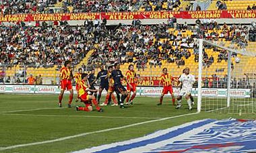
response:
[[(156, 106), (159, 98), (136, 97), (133, 107), (103, 107), (104, 112), (75, 111), (75, 105), (67, 108), (68, 96), (64, 97), (63, 108), (57, 107), (58, 95), (0, 95), (0, 152), (72, 152), (110, 144), (131, 138), (137, 138), (189, 121), (212, 118), (256, 119), (255, 115), (228, 113), (196, 113), (189, 111), (185, 101), (181, 109), (175, 109), (170, 98), (164, 98), (162, 106)], [(101, 101), (104, 100), (102, 97)], [(160, 120), (170, 117), (169, 119)], [(143, 123), (151, 121), (149, 123)], [(133, 125), (134, 123), (141, 123)], [(129, 127), (123, 127), (130, 125)], [(116, 130), (100, 132), (117, 127)], [(118, 128), (120, 127), (120, 128)], [(34, 142), (45, 142), (92, 132), (58, 142), (30, 145)], [(17, 147), (19, 144), (27, 146)], [(11, 147), (7, 150), (3, 148)], [(15, 147), (16, 146), (16, 147)]]

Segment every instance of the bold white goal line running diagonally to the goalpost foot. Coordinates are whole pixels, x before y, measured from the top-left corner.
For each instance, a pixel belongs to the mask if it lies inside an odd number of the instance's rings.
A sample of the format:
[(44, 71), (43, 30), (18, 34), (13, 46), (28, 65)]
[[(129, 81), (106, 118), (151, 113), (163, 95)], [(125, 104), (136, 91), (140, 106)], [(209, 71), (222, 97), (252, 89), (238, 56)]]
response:
[(0, 151), (1, 150), (9, 150), (9, 149), (13, 149), (13, 148), (20, 148), (20, 147), (24, 147), (24, 146), (34, 146), (34, 145), (38, 145), (38, 144), (47, 144), (47, 143), (59, 142), (59, 141), (68, 140), (68, 139), (71, 139), (71, 138), (87, 136), (89, 134), (98, 134), (98, 133), (101, 133), (101, 132), (109, 132), (109, 131), (113, 131), (113, 130), (120, 130), (120, 129), (124, 129), (124, 128), (127, 128), (127, 127), (133, 127), (133, 126), (136, 126), (136, 125), (142, 125), (142, 124), (146, 124), (146, 123), (153, 123), (153, 122), (156, 122), (156, 121), (164, 121), (164, 120), (167, 120), (167, 119), (173, 119), (173, 118), (177, 118), (177, 117), (184, 117), (184, 116), (187, 116), (187, 115), (195, 115), (195, 114), (197, 114), (197, 113), (187, 113), (187, 114), (183, 114), (183, 115), (165, 117), (165, 118), (162, 118), (162, 119), (154, 119), (154, 120), (150, 120), (150, 121), (143, 121), (143, 122), (139, 122), (139, 123), (133, 123), (133, 124), (124, 125), (124, 126), (121, 126), (121, 127), (113, 127), (113, 128), (110, 128), (110, 129), (99, 130), (99, 131), (95, 131), (95, 132), (86, 132), (86, 133), (83, 133), (83, 134), (77, 134), (77, 135), (67, 136), (67, 137), (63, 137), (63, 138), (57, 138), (57, 139), (54, 139), (54, 140), (46, 140), (46, 141), (43, 141), (43, 142), (33, 142), (33, 143), (30, 143), (30, 144), (18, 144), (18, 145), (14, 145), (14, 146), (0, 147)]

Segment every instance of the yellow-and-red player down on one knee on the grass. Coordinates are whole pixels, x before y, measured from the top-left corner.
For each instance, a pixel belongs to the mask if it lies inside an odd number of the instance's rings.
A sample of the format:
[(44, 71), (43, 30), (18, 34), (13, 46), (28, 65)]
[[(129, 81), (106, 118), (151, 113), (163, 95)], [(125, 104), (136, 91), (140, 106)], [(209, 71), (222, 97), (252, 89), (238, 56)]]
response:
[(88, 87), (88, 74), (82, 74), (82, 81), (79, 82), (78, 85), (78, 92), (79, 92), (79, 99), (82, 103), (84, 103), (85, 107), (76, 106), (75, 109), (77, 111), (92, 111), (92, 103), (96, 106), (96, 110), (102, 112), (103, 109), (100, 108), (98, 105), (98, 101), (94, 95), (89, 95), (87, 92), (96, 92), (97, 90), (89, 89)]

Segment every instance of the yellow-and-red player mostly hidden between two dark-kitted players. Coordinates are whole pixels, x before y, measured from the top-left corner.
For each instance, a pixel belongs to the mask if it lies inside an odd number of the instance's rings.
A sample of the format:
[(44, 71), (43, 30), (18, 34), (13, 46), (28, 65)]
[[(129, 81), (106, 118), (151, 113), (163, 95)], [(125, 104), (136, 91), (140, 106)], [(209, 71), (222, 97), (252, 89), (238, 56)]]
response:
[(106, 94), (106, 99), (104, 101), (104, 103), (101, 104), (101, 106), (106, 106), (108, 105), (108, 99), (111, 97), (113, 99), (113, 105), (111, 106), (117, 106), (117, 99), (115, 99), (115, 95), (113, 94), (113, 92), (115, 91), (115, 87), (114, 87), (114, 80), (111, 77), (111, 72), (113, 70), (113, 66), (108, 66), (108, 93)]

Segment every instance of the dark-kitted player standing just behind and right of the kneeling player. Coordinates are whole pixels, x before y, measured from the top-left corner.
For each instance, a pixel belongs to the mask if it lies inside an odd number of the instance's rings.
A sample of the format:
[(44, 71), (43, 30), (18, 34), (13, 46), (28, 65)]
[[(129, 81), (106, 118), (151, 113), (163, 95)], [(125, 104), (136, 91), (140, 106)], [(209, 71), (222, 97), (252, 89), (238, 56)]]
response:
[(100, 72), (98, 72), (96, 80), (98, 81), (98, 79), (100, 79), (100, 87), (98, 90), (98, 102), (100, 103), (100, 97), (101, 97), (101, 93), (102, 91), (105, 89), (106, 91), (108, 91), (108, 71), (104, 70), (104, 65), (100, 66)]

